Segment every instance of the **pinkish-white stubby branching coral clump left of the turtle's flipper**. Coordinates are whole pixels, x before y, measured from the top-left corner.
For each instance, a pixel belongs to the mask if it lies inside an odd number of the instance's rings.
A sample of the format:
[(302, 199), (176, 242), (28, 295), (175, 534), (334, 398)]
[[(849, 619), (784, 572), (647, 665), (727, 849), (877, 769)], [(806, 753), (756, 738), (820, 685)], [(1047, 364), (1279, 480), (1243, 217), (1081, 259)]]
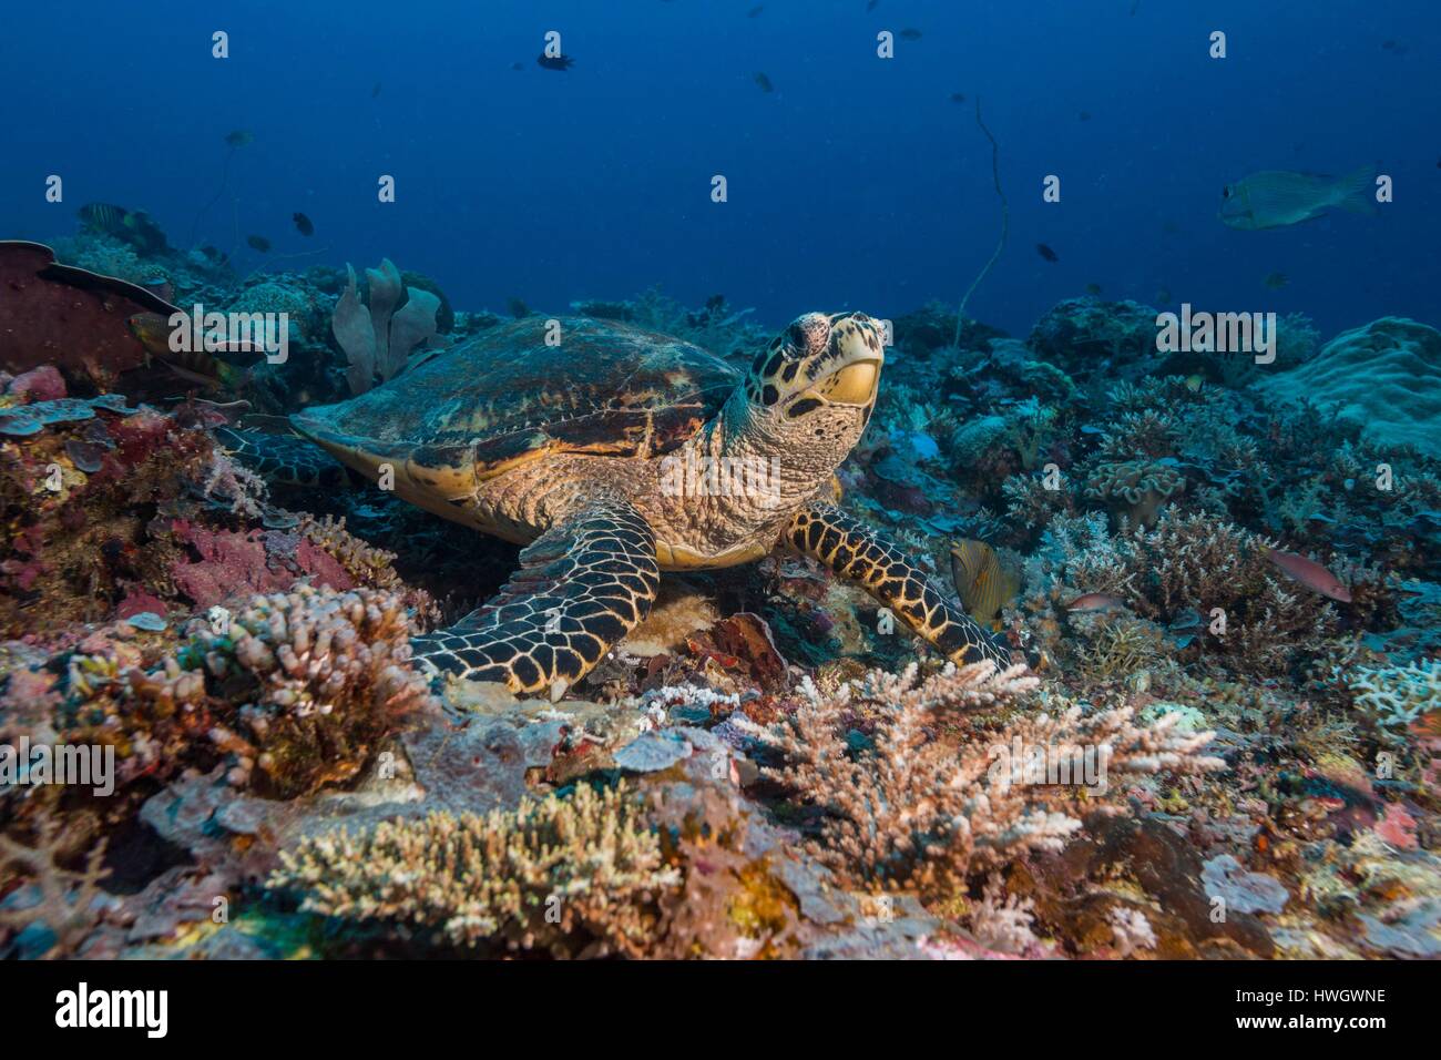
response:
[(353, 777), (429, 705), (409, 666), (414, 626), (392, 593), (297, 586), (196, 620), (154, 665), (71, 656), (65, 738), (117, 747), (120, 782), (209, 769), (290, 798)]

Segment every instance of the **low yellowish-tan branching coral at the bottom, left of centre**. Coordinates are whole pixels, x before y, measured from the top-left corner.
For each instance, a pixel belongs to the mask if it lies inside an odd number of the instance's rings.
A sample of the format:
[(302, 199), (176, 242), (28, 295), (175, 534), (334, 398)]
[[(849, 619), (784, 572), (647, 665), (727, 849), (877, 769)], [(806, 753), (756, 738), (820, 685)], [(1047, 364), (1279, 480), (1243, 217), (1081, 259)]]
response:
[(281, 864), (268, 887), (304, 891), (304, 911), (558, 955), (638, 955), (654, 901), (680, 884), (630, 792), (584, 785), (513, 812), (440, 812), (305, 839)]

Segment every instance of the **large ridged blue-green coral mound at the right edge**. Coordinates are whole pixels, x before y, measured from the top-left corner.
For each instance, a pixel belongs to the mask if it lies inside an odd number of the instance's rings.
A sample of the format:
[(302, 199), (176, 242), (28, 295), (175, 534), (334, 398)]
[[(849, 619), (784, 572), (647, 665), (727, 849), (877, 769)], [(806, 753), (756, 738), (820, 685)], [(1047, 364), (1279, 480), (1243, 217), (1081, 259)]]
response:
[(1337, 402), (1378, 444), (1441, 457), (1441, 332), (1382, 317), (1342, 332), (1300, 368), (1258, 384), (1282, 401)]

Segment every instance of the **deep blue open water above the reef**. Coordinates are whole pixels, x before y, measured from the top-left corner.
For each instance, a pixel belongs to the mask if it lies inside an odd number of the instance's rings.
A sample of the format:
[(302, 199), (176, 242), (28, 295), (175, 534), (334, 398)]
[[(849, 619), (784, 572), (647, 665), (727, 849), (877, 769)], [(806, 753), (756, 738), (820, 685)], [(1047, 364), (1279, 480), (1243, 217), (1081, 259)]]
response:
[[(1300, 310), (1327, 337), (1383, 314), (1441, 324), (1441, 4), (764, 0), (748, 17), (758, 1), (9, 4), (0, 235), (53, 241), (99, 200), (184, 245), (244, 128), (255, 141), (196, 237), (242, 274), (265, 261), (244, 245), (259, 234), (272, 257), (323, 251), (278, 267), (386, 255), (460, 309), (559, 312), (661, 284), (772, 324), (893, 316), (957, 300), (996, 242), (980, 95), (1012, 206), (968, 307), (989, 323), (1025, 335), (1098, 284)], [(229, 59), (210, 58), (216, 29)], [(568, 72), (536, 65), (552, 29)], [(895, 59), (876, 58), (882, 29)], [(1213, 29), (1225, 61), (1208, 58)], [(1246, 173), (1366, 163), (1395, 179), (1376, 218), (1216, 219)], [(62, 205), (45, 202), (52, 173)], [(1048, 173), (1059, 205), (1042, 202)], [(1282, 290), (1262, 284), (1274, 271)]]

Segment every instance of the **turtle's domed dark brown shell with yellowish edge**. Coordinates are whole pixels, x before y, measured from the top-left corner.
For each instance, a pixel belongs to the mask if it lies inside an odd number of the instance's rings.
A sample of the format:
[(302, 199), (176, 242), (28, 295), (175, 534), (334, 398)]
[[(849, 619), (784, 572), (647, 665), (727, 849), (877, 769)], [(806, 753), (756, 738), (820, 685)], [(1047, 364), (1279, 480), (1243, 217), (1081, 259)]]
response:
[(447, 499), (550, 453), (661, 456), (710, 420), (741, 372), (699, 346), (614, 320), (545, 317), (493, 327), (376, 389), (293, 417), (307, 437), (370, 473)]

